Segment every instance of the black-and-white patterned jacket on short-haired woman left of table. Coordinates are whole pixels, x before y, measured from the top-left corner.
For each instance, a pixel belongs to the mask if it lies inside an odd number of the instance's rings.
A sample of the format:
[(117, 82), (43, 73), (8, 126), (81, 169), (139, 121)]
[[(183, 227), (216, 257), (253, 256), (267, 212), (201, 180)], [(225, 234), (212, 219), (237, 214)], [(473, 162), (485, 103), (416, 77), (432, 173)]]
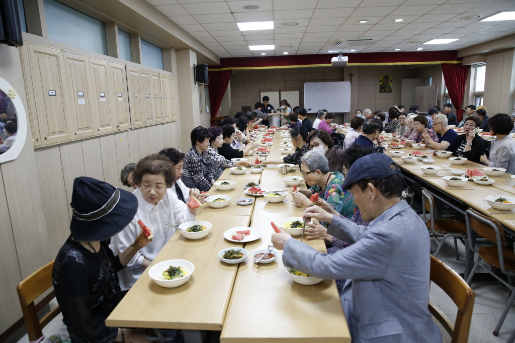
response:
[(202, 155), (200, 155), (196, 147), (192, 146), (190, 151), (186, 153), (183, 169), (184, 173), (181, 179), (186, 187), (197, 188), (197, 190), (203, 192), (209, 191), (213, 174), (209, 165), (202, 158)]

